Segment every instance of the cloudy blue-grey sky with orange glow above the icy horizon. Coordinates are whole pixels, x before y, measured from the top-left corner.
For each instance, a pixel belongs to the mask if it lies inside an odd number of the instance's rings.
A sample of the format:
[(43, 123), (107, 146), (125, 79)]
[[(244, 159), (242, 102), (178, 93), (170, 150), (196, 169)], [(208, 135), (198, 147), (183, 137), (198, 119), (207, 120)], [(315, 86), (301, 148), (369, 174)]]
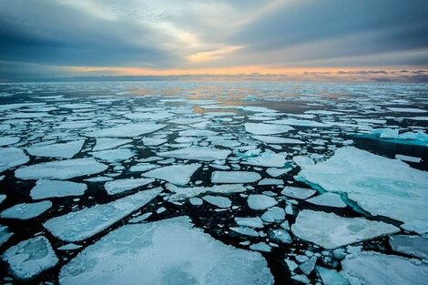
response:
[(428, 81), (427, 0), (0, 0), (0, 81)]

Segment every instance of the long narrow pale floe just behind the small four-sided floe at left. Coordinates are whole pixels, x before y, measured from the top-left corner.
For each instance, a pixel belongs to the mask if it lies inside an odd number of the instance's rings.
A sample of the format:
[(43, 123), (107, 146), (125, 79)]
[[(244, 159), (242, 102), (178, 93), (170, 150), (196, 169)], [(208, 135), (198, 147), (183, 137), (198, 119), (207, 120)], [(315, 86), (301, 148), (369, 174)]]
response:
[(107, 165), (94, 158), (76, 158), (50, 161), (21, 167), (15, 170), (15, 177), (21, 179), (68, 179), (102, 172)]

